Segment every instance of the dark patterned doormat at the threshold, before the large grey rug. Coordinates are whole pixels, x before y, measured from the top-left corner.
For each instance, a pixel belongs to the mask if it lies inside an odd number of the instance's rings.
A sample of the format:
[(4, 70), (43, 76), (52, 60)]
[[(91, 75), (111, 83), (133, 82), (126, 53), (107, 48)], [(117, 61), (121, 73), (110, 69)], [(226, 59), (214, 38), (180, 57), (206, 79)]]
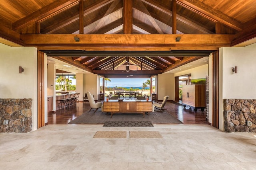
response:
[(117, 127), (117, 126), (154, 126), (151, 121), (106, 121), (103, 126), (106, 127)]

